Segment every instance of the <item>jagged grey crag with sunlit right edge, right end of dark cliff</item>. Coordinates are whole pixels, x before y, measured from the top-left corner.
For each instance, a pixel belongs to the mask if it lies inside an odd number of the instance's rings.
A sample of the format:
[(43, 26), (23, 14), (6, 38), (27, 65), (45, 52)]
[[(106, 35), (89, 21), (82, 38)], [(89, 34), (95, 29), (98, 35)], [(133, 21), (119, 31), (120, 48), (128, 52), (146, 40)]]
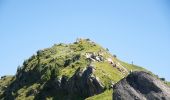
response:
[(69, 92), (78, 93), (81, 96), (93, 96), (104, 91), (104, 86), (98, 77), (93, 75), (93, 66), (87, 67), (84, 71), (77, 71), (69, 80)]

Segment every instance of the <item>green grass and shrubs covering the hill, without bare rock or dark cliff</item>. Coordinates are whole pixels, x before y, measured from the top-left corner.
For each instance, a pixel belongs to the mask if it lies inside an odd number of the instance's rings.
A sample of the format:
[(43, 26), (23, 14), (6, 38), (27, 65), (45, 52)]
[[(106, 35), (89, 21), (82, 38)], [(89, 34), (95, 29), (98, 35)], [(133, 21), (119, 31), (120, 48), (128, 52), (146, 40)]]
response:
[[(103, 61), (89, 61), (86, 53), (94, 53), (98, 55), (102, 53)], [(116, 67), (108, 62), (111, 59)], [(0, 80), (0, 97), (3, 98), (4, 86), (18, 80), (22, 83), (22, 79), (27, 81), (22, 84), (15, 92), (12, 93), (17, 100), (34, 99), (34, 95), (28, 96), (32, 90), (40, 91), (44, 87), (44, 83), (50, 78), (60, 79), (63, 75), (68, 79), (71, 78), (76, 70), (84, 70), (87, 66), (92, 65), (95, 68), (94, 76), (98, 77), (105, 91), (101, 94), (87, 98), (87, 100), (111, 100), (112, 90), (110, 86), (126, 77), (130, 71), (147, 71), (142, 67), (125, 63), (113, 56), (105, 48), (90, 41), (89, 39), (79, 39), (72, 44), (55, 44), (51, 48), (37, 51), (36, 55), (25, 60), (23, 65), (18, 68), (17, 74), (13, 77)], [(124, 72), (120, 69), (124, 69)], [(29, 73), (29, 75), (25, 74)], [(22, 76), (22, 77), (20, 77)], [(56, 98), (49, 95), (48, 99)], [(64, 95), (63, 95), (64, 98)], [(81, 98), (80, 98), (81, 99)]]

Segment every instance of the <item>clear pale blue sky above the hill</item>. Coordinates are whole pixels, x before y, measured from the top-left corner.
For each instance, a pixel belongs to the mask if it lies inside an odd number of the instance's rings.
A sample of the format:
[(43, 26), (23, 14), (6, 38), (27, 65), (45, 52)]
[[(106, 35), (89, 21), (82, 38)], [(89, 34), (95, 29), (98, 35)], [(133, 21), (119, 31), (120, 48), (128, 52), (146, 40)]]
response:
[(0, 76), (78, 37), (170, 81), (169, 0), (0, 0)]

